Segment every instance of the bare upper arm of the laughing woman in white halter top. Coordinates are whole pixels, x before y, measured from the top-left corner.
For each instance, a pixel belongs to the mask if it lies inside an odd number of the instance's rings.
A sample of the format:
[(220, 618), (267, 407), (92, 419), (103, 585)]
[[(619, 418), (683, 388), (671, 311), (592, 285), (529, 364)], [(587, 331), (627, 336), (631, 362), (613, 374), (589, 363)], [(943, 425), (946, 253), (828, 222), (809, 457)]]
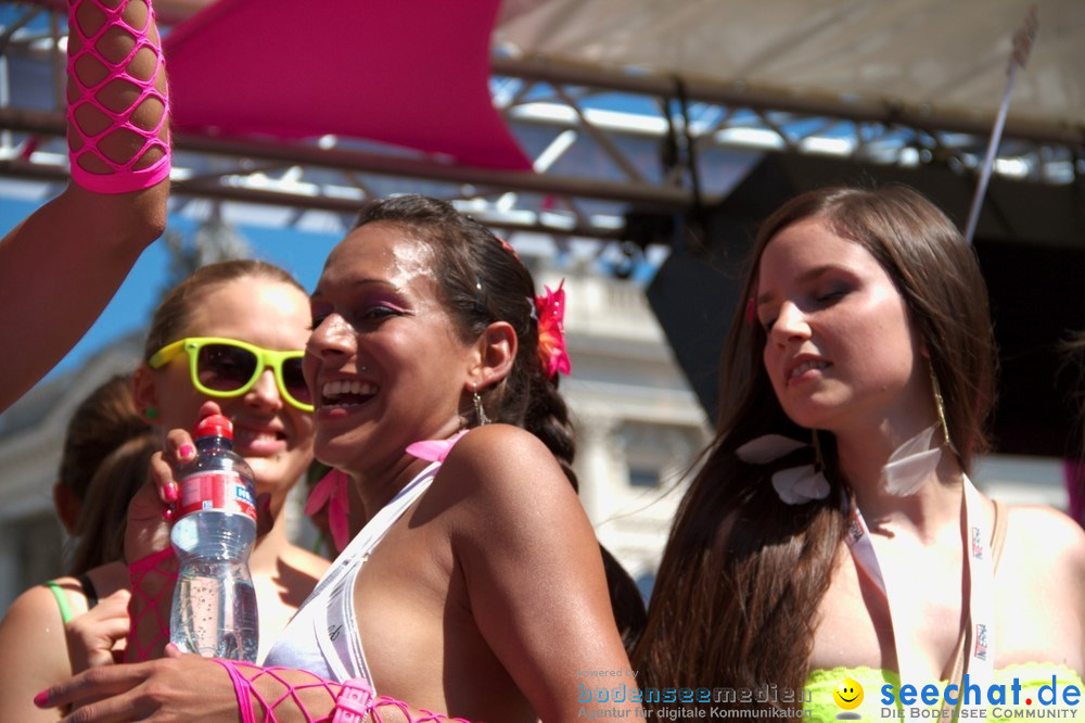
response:
[[(443, 471), (464, 494), (454, 547), (475, 622), (538, 715), (561, 723), (583, 720), (586, 709), (637, 718), (599, 545), (549, 451), (526, 432), (494, 426), (465, 436)], [(595, 695), (623, 685), (620, 702)]]

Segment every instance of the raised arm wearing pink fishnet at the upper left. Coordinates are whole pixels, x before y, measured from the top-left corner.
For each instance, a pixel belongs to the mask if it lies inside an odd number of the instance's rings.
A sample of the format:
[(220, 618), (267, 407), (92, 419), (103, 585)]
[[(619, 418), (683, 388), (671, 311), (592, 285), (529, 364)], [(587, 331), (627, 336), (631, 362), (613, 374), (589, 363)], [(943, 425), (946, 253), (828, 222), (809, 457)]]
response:
[(0, 241), (0, 329), (20, 350), (0, 362), (0, 411), (82, 337), (165, 228), (168, 101), (149, 2), (69, 5), (75, 182)]

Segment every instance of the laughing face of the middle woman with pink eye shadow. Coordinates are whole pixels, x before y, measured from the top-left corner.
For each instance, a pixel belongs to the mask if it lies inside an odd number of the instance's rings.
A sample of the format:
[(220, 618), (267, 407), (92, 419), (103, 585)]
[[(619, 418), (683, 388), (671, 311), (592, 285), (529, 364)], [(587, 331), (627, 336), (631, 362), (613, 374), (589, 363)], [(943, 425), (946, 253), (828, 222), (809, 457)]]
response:
[(473, 346), (457, 333), (433, 267), (425, 242), (386, 221), (356, 229), (328, 257), (305, 357), (321, 461), (380, 468), (461, 426)]

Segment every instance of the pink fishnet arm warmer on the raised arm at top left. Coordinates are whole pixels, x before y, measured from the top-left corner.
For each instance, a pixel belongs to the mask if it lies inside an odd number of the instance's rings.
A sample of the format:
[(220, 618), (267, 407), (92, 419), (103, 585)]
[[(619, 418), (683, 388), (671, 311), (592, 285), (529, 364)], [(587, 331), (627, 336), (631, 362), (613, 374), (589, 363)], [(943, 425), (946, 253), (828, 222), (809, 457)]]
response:
[(150, 0), (71, 0), (68, 151), (72, 179), (98, 193), (169, 176), (169, 101)]

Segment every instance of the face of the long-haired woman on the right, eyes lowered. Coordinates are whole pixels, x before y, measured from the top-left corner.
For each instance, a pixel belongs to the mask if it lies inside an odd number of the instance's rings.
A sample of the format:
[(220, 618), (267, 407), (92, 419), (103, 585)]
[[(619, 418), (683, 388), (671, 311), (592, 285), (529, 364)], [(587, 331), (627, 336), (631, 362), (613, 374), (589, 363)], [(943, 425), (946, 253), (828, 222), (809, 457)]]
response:
[(830, 431), (930, 423), (926, 364), (907, 305), (859, 244), (810, 218), (783, 228), (758, 264), (765, 369), (796, 423)]

